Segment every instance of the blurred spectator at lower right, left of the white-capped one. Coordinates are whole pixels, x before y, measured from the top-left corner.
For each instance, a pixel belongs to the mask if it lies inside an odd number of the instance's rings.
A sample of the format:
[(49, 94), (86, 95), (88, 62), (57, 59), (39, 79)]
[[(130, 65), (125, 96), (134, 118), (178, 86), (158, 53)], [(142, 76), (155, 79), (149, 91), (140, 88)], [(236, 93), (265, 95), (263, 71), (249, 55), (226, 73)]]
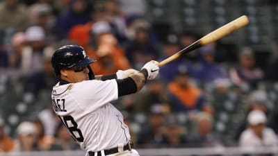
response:
[(213, 116), (206, 112), (197, 114), (196, 128), (192, 135), (188, 135), (190, 147), (217, 147), (222, 146), (221, 139), (213, 133)]

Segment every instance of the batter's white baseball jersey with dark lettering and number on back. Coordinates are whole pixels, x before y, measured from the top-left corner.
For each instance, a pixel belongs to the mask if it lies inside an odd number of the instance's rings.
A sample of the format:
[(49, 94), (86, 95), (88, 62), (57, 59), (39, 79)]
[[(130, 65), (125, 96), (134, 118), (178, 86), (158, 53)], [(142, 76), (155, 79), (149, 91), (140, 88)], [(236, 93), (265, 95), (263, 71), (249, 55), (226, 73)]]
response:
[(110, 102), (118, 98), (116, 80), (57, 83), (51, 98), (56, 114), (85, 151), (99, 151), (126, 144), (129, 128)]

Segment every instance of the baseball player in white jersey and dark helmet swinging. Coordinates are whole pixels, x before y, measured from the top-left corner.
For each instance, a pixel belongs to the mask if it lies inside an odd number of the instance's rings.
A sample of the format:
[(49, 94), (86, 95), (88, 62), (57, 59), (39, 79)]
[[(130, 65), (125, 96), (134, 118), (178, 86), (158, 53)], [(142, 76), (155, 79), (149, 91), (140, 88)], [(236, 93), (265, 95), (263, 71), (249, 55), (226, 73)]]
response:
[(129, 128), (110, 102), (138, 92), (146, 80), (156, 78), (157, 62), (147, 62), (141, 71), (128, 69), (105, 76), (94, 75), (93, 62), (81, 46), (55, 51), (51, 59), (58, 78), (51, 94), (54, 110), (86, 156), (137, 156)]

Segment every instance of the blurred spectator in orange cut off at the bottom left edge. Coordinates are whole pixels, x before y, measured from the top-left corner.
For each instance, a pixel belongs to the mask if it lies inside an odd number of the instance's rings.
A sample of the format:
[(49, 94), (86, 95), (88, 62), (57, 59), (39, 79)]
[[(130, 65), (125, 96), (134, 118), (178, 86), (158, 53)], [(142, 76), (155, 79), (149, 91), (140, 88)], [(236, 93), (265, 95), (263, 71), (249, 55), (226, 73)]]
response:
[(3, 131), (3, 119), (0, 118), (0, 153), (10, 152), (15, 148), (15, 142)]

